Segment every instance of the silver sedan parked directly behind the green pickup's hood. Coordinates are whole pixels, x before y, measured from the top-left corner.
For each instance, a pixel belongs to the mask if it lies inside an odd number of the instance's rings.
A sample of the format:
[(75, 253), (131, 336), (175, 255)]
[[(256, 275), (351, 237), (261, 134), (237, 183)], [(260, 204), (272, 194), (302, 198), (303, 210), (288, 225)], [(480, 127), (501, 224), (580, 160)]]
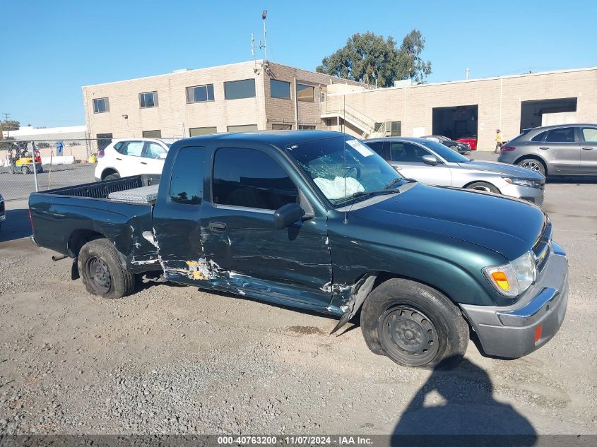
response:
[(390, 137), (365, 140), (403, 176), (437, 186), (477, 189), (543, 205), (545, 177), (517, 166), (469, 160), (436, 141)]

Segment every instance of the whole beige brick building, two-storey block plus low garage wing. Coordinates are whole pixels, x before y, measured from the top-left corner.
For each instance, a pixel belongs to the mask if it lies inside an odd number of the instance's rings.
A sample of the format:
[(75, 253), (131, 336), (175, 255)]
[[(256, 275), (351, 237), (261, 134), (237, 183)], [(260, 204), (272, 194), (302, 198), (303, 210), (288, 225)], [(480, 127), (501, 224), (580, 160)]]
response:
[(273, 62), (175, 71), (83, 87), (90, 138), (183, 138), (250, 129), (332, 129), (355, 136), (471, 136), (492, 149), (546, 124), (597, 121), (597, 68), (392, 88)]

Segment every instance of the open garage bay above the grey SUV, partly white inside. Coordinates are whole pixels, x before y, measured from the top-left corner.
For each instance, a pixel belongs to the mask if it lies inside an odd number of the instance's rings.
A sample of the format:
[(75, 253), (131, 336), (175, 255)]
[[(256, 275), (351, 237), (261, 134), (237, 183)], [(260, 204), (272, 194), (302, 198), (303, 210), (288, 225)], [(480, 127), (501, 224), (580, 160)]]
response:
[(523, 101), (520, 109), (520, 131), (531, 127), (571, 124), (577, 121), (577, 98)]

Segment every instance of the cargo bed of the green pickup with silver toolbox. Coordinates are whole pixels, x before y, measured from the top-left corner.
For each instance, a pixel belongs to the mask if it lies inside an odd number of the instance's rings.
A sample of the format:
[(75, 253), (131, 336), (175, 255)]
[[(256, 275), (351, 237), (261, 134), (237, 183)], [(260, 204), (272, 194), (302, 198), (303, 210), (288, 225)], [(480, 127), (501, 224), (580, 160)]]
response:
[(105, 237), (135, 273), (159, 268), (152, 242), (159, 183), (159, 175), (142, 174), (32, 193), (35, 242), (76, 257), (87, 240)]

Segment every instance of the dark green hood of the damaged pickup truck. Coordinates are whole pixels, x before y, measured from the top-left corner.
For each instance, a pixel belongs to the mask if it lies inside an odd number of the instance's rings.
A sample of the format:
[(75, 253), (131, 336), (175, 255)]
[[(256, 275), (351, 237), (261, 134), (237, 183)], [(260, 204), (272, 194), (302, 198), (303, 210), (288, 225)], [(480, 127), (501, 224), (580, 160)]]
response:
[(369, 220), (372, 227), (405, 228), (470, 242), (509, 261), (533, 247), (547, 218), (536, 205), (516, 198), (425, 184), (371, 202), (350, 215)]

